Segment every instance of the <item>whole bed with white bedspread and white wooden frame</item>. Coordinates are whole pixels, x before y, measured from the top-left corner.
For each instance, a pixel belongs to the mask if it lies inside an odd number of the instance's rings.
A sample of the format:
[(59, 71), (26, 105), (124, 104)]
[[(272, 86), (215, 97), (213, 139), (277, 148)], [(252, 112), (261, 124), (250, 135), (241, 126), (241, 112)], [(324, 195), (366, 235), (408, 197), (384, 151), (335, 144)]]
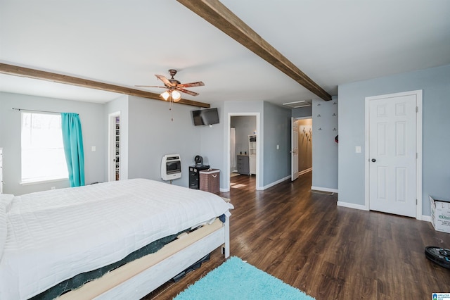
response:
[(228, 257), (231, 208), (215, 194), (146, 179), (1, 194), (0, 299), (39, 296), (159, 239), (196, 229), (61, 296), (140, 299), (219, 246)]

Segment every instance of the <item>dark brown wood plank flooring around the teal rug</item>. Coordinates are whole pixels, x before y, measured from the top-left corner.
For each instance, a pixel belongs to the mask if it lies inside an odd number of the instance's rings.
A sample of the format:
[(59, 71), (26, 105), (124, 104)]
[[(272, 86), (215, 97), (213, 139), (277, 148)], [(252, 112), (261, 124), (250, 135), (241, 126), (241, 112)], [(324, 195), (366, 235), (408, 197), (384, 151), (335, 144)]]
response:
[[(231, 177), (231, 255), (321, 299), (432, 299), (450, 292), (450, 270), (425, 246), (450, 248), (450, 234), (428, 222), (336, 205), (311, 192), (311, 173), (264, 191), (255, 177)], [(144, 299), (172, 299), (224, 261), (219, 250), (181, 281)], [(217, 295), (220, 299), (220, 295)]]

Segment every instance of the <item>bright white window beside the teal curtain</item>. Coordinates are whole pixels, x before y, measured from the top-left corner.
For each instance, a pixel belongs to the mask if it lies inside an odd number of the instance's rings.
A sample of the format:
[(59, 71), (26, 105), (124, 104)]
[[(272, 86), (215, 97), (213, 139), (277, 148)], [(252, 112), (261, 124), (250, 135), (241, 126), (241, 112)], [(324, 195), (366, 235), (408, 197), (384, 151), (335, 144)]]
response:
[(61, 115), (22, 113), (22, 183), (67, 179)]

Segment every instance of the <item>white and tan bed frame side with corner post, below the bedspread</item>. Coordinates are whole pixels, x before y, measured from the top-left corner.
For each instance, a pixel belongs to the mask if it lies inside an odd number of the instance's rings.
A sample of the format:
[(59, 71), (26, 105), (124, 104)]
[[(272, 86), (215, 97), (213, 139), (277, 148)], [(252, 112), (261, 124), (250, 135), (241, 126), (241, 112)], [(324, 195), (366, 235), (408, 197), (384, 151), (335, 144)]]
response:
[[(228, 214), (228, 213), (227, 213)], [(230, 223), (214, 223), (181, 235), (154, 254), (127, 263), (58, 299), (141, 299), (219, 246), (230, 256)]]

